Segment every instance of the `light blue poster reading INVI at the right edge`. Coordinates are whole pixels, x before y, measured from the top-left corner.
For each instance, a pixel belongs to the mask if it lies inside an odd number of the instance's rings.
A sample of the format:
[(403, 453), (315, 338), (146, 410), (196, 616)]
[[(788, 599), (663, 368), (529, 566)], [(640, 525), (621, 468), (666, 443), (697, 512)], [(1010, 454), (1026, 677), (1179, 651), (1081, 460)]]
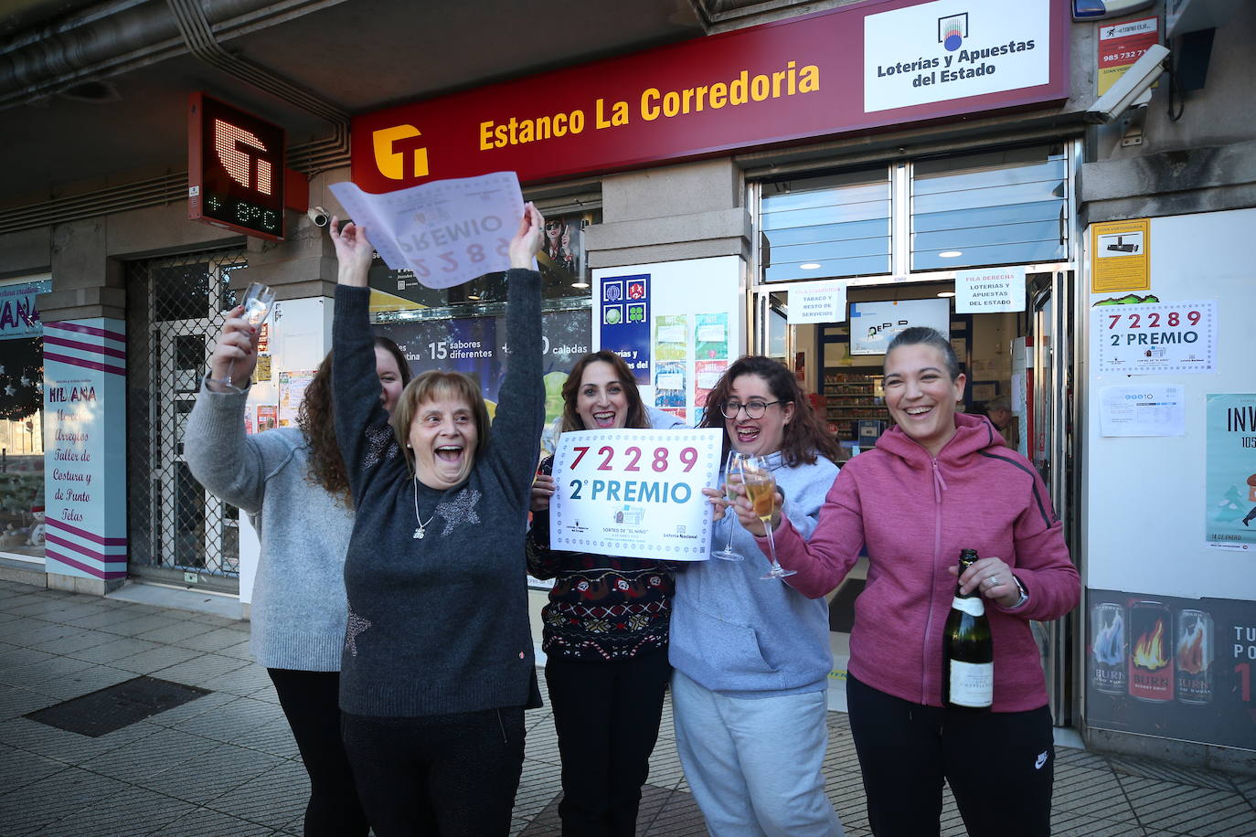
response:
[(1207, 397), (1205, 541), (1256, 558), (1256, 393)]

